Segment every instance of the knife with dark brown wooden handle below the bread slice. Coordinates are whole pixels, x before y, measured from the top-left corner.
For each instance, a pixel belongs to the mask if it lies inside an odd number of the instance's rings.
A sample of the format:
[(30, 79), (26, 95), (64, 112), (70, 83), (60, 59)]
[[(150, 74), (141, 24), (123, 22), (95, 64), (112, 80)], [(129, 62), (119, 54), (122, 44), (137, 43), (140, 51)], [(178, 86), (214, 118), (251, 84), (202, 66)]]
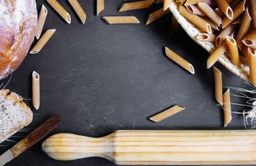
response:
[(7, 162), (10, 162), (13, 158), (19, 156), (58, 126), (60, 126), (60, 116), (51, 116), (49, 119), (47, 119), (47, 121), (38, 126), (38, 128), (36, 128), (32, 133), (29, 133), (29, 135), (20, 140), (20, 142), (15, 144), (15, 146), (3, 153), (3, 155), (0, 156), (0, 166), (3, 166)]

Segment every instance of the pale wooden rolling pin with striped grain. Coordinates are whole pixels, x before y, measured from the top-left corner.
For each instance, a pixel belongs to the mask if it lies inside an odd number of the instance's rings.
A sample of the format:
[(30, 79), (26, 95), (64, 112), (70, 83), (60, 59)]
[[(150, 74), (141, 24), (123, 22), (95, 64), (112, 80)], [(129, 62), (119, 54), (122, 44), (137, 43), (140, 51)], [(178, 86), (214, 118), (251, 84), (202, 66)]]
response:
[(256, 132), (119, 130), (101, 138), (59, 133), (42, 149), (56, 160), (99, 156), (118, 165), (256, 164)]

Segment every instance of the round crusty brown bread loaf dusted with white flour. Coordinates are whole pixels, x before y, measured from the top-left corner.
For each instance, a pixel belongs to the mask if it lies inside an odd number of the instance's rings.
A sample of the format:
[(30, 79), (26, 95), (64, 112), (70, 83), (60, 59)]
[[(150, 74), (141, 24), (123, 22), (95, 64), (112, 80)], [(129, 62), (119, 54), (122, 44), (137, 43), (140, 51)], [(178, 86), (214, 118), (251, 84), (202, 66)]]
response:
[(22, 63), (36, 25), (35, 0), (0, 0), (0, 80)]

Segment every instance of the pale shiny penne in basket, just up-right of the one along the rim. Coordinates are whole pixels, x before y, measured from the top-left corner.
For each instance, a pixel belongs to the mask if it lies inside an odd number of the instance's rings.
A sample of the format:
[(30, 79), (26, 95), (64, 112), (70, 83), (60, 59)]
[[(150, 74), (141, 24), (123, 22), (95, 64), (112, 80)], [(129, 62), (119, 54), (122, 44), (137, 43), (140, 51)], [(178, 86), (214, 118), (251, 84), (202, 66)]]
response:
[(222, 19), (207, 3), (198, 3), (198, 8), (209, 17), (217, 26), (220, 26)]

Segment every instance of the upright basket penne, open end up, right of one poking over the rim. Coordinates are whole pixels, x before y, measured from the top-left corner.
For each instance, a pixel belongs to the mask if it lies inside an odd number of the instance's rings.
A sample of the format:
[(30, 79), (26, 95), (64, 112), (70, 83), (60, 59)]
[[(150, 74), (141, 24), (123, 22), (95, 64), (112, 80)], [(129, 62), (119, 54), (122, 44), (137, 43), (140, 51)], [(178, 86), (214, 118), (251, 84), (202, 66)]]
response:
[(226, 36), (227, 38), (227, 45), (228, 45), (228, 52), (230, 54), (231, 63), (237, 66), (237, 68), (241, 67), (241, 61), (237, 49), (236, 40), (230, 36)]

